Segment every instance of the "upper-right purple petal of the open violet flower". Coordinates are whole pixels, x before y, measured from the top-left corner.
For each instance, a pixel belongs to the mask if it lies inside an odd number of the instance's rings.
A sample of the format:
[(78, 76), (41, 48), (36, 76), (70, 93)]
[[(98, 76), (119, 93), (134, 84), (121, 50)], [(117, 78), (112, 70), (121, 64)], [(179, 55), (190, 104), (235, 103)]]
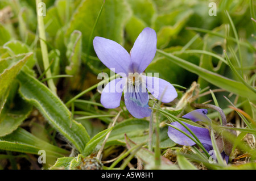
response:
[(156, 33), (151, 28), (144, 28), (131, 49), (131, 61), (134, 72), (142, 73), (155, 57)]

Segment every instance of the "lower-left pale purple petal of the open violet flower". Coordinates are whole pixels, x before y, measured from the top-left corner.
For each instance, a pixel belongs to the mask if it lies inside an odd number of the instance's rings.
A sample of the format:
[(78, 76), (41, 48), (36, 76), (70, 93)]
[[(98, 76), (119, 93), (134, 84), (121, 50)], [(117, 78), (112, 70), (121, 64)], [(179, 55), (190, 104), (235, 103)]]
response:
[(112, 109), (120, 105), (125, 81), (124, 78), (117, 78), (106, 85), (101, 94), (101, 104), (105, 108)]

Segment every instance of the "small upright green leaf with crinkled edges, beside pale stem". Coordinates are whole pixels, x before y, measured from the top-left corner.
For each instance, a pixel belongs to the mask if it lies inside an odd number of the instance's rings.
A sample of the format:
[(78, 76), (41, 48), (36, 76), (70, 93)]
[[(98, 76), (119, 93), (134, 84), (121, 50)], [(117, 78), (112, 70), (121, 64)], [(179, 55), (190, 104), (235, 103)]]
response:
[(82, 53), (82, 33), (80, 31), (73, 31), (67, 46), (67, 57), (69, 65), (66, 66), (65, 71), (68, 75), (76, 75), (79, 73), (81, 65)]

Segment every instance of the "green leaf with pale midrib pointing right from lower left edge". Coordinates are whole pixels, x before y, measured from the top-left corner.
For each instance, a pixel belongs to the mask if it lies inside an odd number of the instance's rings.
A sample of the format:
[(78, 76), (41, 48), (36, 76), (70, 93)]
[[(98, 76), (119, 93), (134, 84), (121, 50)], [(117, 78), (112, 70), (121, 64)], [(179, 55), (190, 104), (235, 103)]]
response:
[(49, 157), (63, 157), (69, 153), (67, 150), (40, 140), (22, 128), (16, 129), (13, 133), (5, 137), (0, 137), (0, 148), (2, 150), (31, 154), (38, 154), (39, 150), (45, 150), (46, 156)]

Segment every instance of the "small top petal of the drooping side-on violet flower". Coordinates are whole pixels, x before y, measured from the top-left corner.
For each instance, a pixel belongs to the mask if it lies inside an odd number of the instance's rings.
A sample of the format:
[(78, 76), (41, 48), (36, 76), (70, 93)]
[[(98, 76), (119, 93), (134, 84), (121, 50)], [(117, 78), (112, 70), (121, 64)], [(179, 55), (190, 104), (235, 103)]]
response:
[(206, 109), (199, 109), (195, 111), (191, 111), (186, 115), (182, 116), (183, 118), (191, 119), (192, 121), (204, 121), (209, 122), (210, 119), (207, 117), (208, 111)]

